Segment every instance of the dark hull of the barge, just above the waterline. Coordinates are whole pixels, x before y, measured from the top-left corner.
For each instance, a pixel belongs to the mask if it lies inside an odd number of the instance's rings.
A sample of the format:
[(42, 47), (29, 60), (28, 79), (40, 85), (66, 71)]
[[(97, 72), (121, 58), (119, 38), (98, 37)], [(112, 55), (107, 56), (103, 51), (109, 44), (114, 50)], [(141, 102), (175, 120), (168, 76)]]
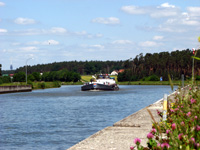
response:
[(112, 84), (112, 85), (104, 85), (104, 84), (87, 84), (83, 85), (81, 87), (82, 91), (89, 91), (89, 90), (103, 90), (103, 91), (117, 91), (119, 90), (119, 87), (117, 84)]

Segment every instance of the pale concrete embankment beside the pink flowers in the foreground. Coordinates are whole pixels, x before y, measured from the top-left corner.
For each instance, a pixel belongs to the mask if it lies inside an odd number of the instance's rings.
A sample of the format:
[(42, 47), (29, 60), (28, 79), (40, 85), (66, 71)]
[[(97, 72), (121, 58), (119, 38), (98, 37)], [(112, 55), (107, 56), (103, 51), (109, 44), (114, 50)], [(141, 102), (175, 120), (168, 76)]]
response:
[[(174, 94), (171, 94), (168, 99), (173, 97)], [(68, 150), (129, 150), (130, 146), (135, 145), (133, 143), (135, 138), (140, 138), (141, 144), (146, 146), (147, 134), (152, 129), (153, 121), (147, 109), (155, 121), (159, 122), (157, 110), (163, 110), (163, 99), (116, 122), (113, 126), (106, 127)]]

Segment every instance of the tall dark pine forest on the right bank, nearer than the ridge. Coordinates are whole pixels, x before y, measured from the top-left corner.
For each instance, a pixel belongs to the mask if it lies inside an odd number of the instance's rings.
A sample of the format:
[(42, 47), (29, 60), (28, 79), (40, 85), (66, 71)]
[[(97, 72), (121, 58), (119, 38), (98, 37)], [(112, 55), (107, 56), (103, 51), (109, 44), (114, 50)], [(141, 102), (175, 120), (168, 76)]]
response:
[[(168, 80), (168, 74), (174, 80), (180, 80), (183, 74), (185, 79), (192, 76), (192, 56), (191, 50), (160, 52), (160, 53), (142, 53), (134, 59), (126, 60), (123, 73), (118, 75), (118, 81), (138, 81), (151, 80), (157, 81), (162, 77)], [(200, 50), (197, 51), (197, 57), (200, 57)], [(195, 75), (200, 75), (200, 61), (194, 61)]]

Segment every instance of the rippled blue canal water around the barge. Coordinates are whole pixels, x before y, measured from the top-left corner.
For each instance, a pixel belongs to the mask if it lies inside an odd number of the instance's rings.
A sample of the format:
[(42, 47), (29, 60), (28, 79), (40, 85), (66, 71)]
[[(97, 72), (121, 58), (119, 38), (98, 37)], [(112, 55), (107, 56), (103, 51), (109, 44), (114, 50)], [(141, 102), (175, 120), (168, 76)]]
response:
[(65, 150), (171, 91), (143, 85), (80, 89), (70, 85), (0, 95), (0, 149)]

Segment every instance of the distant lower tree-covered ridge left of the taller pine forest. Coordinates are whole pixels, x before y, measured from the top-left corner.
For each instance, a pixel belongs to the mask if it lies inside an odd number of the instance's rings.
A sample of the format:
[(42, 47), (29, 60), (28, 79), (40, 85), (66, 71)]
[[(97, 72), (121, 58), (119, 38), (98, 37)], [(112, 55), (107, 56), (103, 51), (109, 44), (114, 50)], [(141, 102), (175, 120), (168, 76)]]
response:
[[(97, 73), (110, 73), (113, 70), (123, 68), (124, 61), (68, 61), (54, 62), (49, 64), (38, 64), (27, 66), (28, 73), (33, 72), (50, 72), (67, 69), (68, 71), (77, 72), (81, 75), (91, 75)], [(17, 72), (25, 71), (25, 66), (16, 69)]]

